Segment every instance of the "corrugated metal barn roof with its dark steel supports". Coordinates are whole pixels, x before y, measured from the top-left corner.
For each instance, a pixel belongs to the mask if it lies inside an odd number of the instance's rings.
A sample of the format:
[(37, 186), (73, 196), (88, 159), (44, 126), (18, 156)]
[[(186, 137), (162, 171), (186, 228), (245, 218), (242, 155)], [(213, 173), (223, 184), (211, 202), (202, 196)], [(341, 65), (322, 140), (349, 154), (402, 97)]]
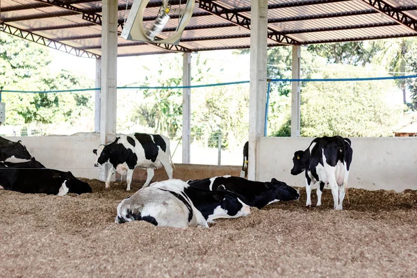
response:
[[(126, 3), (127, 1), (127, 3)], [(186, 0), (170, 1), (178, 8)], [(101, 56), (101, 1), (1, 0), (1, 31), (76, 56)], [(119, 0), (118, 32), (133, 0)], [(126, 14), (127, 4), (127, 14)], [(154, 22), (161, 0), (151, 0), (144, 21)], [(179, 45), (118, 37), (118, 56), (250, 48), (250, 0), (196, 0)], [(154, 13), (152, 13), (154, 12)], [(166, 38), (174, 26), (160, 34)], [(417, 35), (417, 0), (271, 0), (268, 46), (375, 40)]]

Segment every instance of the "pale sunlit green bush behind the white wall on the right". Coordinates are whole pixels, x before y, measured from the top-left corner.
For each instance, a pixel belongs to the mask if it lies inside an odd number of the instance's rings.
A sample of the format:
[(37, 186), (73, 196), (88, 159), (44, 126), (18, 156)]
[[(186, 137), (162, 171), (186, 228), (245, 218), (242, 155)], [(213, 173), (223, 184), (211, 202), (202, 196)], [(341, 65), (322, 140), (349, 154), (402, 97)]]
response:
[[(325, 78), (359, 78), (355, 67), (334, 66)], [(318, 78), (320, 78), (318, 76)], [(301, 94), (302, 136), (391, 136), (402, 114), (392, 104), (393, 81), (310, 82)]]

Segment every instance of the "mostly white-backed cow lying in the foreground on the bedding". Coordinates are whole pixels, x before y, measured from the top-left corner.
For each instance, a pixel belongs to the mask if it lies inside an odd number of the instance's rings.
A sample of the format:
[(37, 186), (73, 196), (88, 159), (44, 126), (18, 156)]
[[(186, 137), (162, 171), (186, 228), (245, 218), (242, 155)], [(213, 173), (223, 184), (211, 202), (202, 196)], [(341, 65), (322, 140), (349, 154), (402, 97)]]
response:
[[(194, 208), (197, 208), (197, 213)], [(204, 221), (213, 222), (217, 218), (238, 218), (249, 214), (250, 207), (224, 186), (218, 190), (204, 190), (179, 179), (170, 179), (152, 183), (124, 199), (117, 207), (115, 221), (145, 220), (155, 225), (187, 227), (196, 226), (198, 221), (193, 219), (197, 217), (198, 220), (199, 215)], [(204, 226), (201, 220), (199, 222)]]

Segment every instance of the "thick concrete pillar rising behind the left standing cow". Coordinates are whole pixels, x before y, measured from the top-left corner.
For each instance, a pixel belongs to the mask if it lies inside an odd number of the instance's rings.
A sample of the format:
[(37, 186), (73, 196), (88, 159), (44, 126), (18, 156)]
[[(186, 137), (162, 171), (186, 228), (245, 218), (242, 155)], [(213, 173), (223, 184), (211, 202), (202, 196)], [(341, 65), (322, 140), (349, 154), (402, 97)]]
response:
[[(101, 24), (101, 95), (100, 141), (113, 142), (116, 137), (117, 104), (117, 0), (103, 0)], [(99, 170), (99, 179), (106, 179), (108, 165)]]

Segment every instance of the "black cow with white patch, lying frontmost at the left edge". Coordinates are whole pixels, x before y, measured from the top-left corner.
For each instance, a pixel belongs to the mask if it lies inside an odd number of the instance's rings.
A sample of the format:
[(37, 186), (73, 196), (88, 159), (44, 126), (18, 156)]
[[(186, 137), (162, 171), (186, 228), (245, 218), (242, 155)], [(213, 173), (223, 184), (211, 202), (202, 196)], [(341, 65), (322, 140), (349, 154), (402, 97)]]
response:
[(0, 189), (58, 196), (64, 196), (67, 193), (92, 192), (88, 183), (76, 179), (71, 172), (44, 168), (19, 168), (13, 164), (0, 163)]

